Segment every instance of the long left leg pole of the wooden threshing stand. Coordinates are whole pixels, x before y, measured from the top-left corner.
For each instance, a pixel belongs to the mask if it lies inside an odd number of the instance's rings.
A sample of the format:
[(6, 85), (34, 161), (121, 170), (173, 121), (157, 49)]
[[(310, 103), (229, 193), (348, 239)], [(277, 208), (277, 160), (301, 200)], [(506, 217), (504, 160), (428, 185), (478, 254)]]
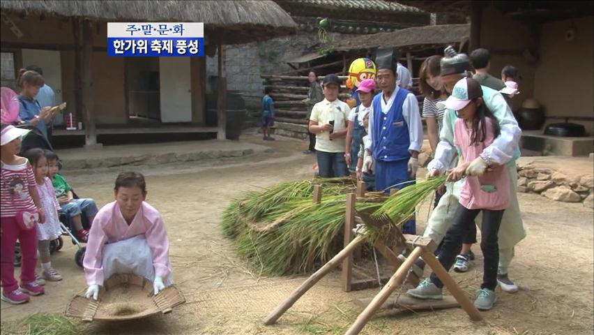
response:
[(268, 314), (268, 316), (264, 318), (264, 325), (272, 325), (273, 323), (275, 323), (276, 320), (278, 320), (278, 318), (280, 318), (284, 314), (284, 312), (287, 311), (287, 309), (291, 308), (291, 306), (293, 306), (293, 304), (295, 304), (295, 302), (302, 295), (304, 295), (305, 292), (307, 292), (307, 290), (312, 288), (312, 286), (315, 285), (321, 278), (323, 278), (323, 276), (326, 276), (328, 272), (332, 271), (335, 267), (337, 267), (342, 261), (342, 259), (352, 255), (353, 249), (359, 246), (360, 244), (363, 244), (364, 241), (365, 238), (362, 235), (355, 237), (355, 239), (353, 239), (353, 241), (351, 241), (351, 243), (349, 243), (348, 246), (342, 249), (340, 253), (335, 255), (334, 258), (332, 258), (329, 262), (323, 265), (323, 267), (321, 267), (318, 271), (312, 274), (310, 278), (307, 278), (307, 280), (303, 282), (303, 284), (301, 284), (296, 290), (293, 291), (293, 293), (291, 293), (289, 298), (287, 298), (285, 301), (282, 302), (282, 304), (275, 308), (275, 310), (272, 313)]

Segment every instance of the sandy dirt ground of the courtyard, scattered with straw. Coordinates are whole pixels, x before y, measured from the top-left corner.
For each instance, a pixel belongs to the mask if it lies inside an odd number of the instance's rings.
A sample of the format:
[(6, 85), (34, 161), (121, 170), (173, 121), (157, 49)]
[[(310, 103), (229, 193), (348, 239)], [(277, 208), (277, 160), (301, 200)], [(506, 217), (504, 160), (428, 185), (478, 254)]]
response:
[[(261, 137), (243, 140), (263, 144)], [(261, 319), (280, 304), (305, 277), (264, 278), (236, 256), (222, 236), (220, 216), (229, 200), (244, 191), (280, 181), (312, 176), (315, 157), (301, 154), (307, 144), (278, 138), (264, 143), (274, 150), (241, 158), (202, 163), (139, 166), (147, 177), (148, 199), (160, 210), (169, 234), (174, 281), (188, 302), (167, 315), (128, 322), (92, 322), (86, 334), (343, 334), (362, 311), (353, 301), (378, 289), (342, 292), (340, 272), (324, 278), (279, 320), (266, 327)], [(99, 205), (113, 199), (113, 182), (123, 168), (65, 171), (79, 195)], [(425, 172), (420, 171), (419, 176)], [(519, 194), (528, 237), (516, 248), (510, 276), (521, 290), (497, 289), (485, 321), (471, 322), (460, 308), (422, 313), (383, 311), (362, 334), (593, 334), (593, 211), (581, 204), (554, 202)], [(427, 219), (418, 214), (418, 231)], [(453, 274), (473, 296), (482, 278), (478, 253), (471, 271)], [(34, 312), (63, 313), (75, 293), (85, 288), (70, 241), (52, 257), (64, 280), (47, 283), (46, 293), (29, 304), (1, 303), (1, 321)]]

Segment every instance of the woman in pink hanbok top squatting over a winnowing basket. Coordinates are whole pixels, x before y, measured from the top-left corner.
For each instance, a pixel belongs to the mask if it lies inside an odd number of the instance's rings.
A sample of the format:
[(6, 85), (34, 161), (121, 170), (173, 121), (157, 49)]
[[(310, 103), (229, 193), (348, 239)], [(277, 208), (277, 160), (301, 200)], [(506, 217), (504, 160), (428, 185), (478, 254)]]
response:
[(172, 284), (165, 223), (146, 199), (144, 176), (122, 172), (114, 202), (102, 207), (89, 232), (83, 265), (86, 297), (97, 299), (99, 286), (114, 274), (136, 274), (153, 281), (155, 295)]

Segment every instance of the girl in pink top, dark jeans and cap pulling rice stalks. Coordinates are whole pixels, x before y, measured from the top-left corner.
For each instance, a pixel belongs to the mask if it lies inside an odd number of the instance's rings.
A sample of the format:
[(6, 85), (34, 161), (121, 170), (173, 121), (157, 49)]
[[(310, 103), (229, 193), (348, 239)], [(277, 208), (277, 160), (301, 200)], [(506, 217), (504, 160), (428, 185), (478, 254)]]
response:
[[(454, 144), (458, 149), (458, 165), (448, 174), (449, 181), (458, 181), (466, 176), (460, 191), (460, 206), (454, 216), (439, 253), (439, 262), (446, 269), (454, 264), (462, 237), (474, 225), (474, 219), (482, 211), (480, 248), (484, 256), (482, 285), (477, 292), (475, 306), (480, 310), (493, 307), (496, 297), (497, 267), (499, 262), (498, 231), (503, 211), (508, 207), (510, 181), (505, 167), (491, 166), (481, 175), (471, 175), (469, 169), (475, 160), (482, 160), (483, 149), (492, 144), (499, 135), (498, 122), (482, 101), (480, 84), (464, 78), (455, 84), (446, 107), (456, 110), (458, 119), (454, 126)], [(433, 273), (408, 294), (420, 299), (441, 299), (443, 283)]]

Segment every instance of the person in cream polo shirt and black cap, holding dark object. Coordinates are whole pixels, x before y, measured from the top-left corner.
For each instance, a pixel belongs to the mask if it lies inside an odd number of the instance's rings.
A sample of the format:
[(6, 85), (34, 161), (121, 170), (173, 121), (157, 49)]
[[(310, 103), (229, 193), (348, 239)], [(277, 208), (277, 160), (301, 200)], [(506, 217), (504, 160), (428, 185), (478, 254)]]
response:
[(349, 175), (344, 153), (347, 118), (351, 108), (338, 100), (342, 81), (337, 75), (323, 79), (323, 101), (314, 105), (310, 116), (310, 133), (316, 135), (316, 156), (319, 177), (346, 177)]

